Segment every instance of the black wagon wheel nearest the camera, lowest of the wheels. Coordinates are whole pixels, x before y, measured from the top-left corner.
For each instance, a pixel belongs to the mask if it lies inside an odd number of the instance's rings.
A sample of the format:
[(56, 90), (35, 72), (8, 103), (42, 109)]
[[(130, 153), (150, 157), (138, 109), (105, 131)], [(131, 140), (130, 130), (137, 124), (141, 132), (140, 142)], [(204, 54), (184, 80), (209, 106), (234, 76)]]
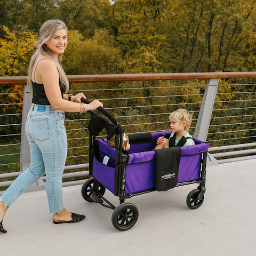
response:
[(120, 231), (132, 228), (139, 217), (138, 208), (131, 203), (119, 204), (112, 214), (112, 224)]

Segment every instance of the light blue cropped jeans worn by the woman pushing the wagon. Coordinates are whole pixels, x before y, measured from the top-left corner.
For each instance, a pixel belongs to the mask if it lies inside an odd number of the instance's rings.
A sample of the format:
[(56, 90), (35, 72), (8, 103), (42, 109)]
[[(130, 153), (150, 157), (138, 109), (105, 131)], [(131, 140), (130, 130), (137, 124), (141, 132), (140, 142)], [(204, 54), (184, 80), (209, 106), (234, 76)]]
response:
[(30, 146), (30, 166), (21, 173), (0, 198), (12, 203), (46, 173), (46, 194), (50, 213), (63, 210), (62, 173), (67, 157), (65, 114), (52, 106), (32, 104), (26, 123)]

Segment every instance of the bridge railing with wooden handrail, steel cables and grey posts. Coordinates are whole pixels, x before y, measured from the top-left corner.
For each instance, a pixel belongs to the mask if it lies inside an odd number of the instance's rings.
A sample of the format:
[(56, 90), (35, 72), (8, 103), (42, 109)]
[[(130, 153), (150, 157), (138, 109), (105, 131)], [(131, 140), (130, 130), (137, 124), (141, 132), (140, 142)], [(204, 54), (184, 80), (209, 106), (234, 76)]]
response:
[[(70, 93), (99, 99), (126, 133), (169, 130), (169, 114), (193, 112), (189, 133), (209, 142), (208, 164), (256, 157), (256, 72), (69, 76)], [(25, 135), (31, 95), (27, 77), (0, 77), (0, 187), (5, 189), (30, 163)], [(68, 158), (63, 186), (89, 174), (89, 115), (66, 113)], [(99, 138), (105, 138), (102, 132)], [(45, 177), (31, 189), (44, 188)], [(0, 192), (1, 193), (1, 192)]]

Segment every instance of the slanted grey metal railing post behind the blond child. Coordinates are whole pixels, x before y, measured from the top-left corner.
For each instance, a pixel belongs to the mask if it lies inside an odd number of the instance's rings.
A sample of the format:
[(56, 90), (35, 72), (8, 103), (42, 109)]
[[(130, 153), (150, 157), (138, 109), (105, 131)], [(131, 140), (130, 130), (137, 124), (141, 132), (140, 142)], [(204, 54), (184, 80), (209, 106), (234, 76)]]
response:
[(196, 129), (194, 137), (206, 141), (209, 125), (211, 122), (212, 109), (214, 105), (215, 96), (217, 93), (219, 79), (209, 79), (206, 84), (204, 98), (197, 118)]

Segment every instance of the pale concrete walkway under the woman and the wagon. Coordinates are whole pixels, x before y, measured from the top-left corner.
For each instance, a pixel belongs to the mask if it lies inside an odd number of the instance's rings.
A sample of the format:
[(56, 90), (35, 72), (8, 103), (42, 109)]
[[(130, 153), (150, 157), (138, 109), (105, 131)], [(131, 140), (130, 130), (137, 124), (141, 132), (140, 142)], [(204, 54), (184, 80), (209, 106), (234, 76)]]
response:
[[(207, 166), (205, 200), (190, 210), (187, 185), (127, 199), (139, 219), (127, 231), (111, 223), (113, 210), (88, 203), (81, 185), (63, 188), (65, 207), (83, 213), (79, 223), (54, 225), (45, 190), (23, 194), (4, 219), (3, 256), (254, 256), (256, 255), (256, 159)], [(118, 205), (108, 190), (105, 197)]]

